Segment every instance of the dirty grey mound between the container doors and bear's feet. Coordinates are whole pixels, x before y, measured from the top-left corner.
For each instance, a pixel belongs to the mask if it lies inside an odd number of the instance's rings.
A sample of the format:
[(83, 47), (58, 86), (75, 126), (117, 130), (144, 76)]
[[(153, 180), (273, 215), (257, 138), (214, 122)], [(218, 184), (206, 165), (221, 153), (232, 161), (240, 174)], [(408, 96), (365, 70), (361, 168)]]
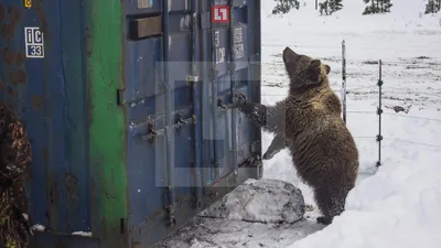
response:
[(260, 223), (294, 223), (302, 219), (301, 191), (280, 180), (248, 180), (201, 213), (201, 216)]

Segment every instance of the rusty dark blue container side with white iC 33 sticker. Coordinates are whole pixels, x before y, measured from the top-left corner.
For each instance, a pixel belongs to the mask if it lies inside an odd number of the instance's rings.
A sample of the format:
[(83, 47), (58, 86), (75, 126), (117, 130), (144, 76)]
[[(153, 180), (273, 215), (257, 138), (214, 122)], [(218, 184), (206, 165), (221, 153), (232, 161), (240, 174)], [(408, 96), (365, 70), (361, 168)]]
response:
[(80, 6), (29, 2), (0, 1), (0, 100), (14, 109), (31, 139), (32, 223), (55, 233), (87, 231)]

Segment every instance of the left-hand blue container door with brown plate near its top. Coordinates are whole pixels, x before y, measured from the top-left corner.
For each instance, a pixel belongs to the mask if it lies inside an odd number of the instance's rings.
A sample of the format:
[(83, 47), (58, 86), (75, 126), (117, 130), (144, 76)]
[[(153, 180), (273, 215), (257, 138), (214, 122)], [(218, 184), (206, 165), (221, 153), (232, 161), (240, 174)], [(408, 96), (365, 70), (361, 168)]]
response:
[[(125, 1), (130, 244), (151, 245), (201, 197), (196, 1)], [(197, 195), (197, 191), (200, 192)]]

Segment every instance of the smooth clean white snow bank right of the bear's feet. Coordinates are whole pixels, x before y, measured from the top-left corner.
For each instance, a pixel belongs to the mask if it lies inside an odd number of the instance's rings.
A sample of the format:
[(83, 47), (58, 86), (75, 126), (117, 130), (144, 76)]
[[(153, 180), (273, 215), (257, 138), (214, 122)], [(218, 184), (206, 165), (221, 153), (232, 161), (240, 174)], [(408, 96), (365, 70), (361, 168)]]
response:
[(289, 248), (439, 248), (441, 166), (388, 164), (348, 195), (346, 211)]

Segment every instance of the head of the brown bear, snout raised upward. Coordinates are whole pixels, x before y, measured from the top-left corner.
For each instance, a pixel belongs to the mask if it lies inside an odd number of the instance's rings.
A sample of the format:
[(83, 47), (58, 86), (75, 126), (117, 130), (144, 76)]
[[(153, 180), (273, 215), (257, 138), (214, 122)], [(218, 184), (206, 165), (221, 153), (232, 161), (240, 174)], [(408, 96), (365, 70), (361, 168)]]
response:
[(327, 85), (331, 67), (320, 60), (297, 54), (288, 46), (283, 50), (282, 57), (290, 78), (290, 93)]

